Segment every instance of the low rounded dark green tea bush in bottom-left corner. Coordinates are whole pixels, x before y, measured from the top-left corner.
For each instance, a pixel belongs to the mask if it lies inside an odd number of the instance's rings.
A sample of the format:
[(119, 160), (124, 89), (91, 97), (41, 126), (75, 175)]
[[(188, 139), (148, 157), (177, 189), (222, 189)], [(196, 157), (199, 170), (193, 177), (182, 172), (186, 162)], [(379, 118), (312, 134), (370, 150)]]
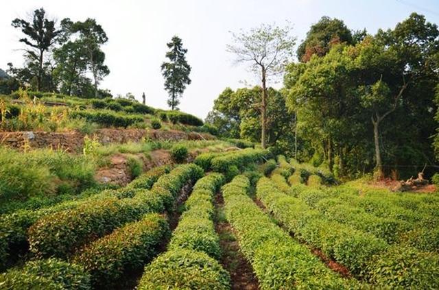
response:
[(92, 289), (90, 276), (80, 265), (54, 258), (29, 261), (21, 269), (0, 275), (1, 289)]

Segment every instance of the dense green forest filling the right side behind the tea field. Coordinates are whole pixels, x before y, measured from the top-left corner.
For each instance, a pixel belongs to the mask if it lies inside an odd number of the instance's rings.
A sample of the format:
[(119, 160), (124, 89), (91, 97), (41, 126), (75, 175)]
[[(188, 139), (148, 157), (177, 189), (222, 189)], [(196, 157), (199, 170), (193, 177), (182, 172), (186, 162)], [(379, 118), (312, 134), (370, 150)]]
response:
[[(336, 176), (408, 178), (437, 170), (439, 32), (413, 13), (371, 35), (322, 17), (268, 88), (268, 145)], [(206, 119), (220, 134), (259, 141), (261, 86), (230, 88)], [(438, 117), (436, 117), (437, 119)]]

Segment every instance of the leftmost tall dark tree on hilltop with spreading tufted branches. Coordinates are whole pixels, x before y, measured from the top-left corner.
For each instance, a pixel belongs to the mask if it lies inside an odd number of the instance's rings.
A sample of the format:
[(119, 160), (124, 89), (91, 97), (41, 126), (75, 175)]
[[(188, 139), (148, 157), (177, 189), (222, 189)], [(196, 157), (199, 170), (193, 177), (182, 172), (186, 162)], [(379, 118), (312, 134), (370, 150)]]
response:
[(32, 16), (32, 23), (18, 18), (12, 21), (12, 26), (20, 28), (21, 32), (26, 36), (21, 38), (20, 42), (27, 45), (25, 52), (27, 60), (29, 60), (28, 63), (30, 65), (36, 64), (37, 90), (43, 89), (45, 53), (56, 43), (61, 33), (61, 30), (56, 28), (56, 22), (46, 19), (45, 13), (43, 8), (35, 10)]

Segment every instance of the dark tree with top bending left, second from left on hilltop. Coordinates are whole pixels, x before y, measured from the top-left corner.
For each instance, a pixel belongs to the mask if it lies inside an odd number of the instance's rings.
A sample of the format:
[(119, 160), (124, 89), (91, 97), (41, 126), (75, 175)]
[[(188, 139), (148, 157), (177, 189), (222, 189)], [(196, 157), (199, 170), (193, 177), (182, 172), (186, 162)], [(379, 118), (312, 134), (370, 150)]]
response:
[(84, 56), (87, 59), (87, 67), (93, 75), (93, 86), (95, 97), (99, 97), (99, 82), (110, 73), (108, 67), (104, 64), (105, 53), (101, 46), (108, 41), (108, 37), (101, 25), (96, 23), (95, 19), (86, 19), (86, 21), (72, 22), (70, 19), (64, 19), (61, 22), (65, 36), (78, 34), (78, 46), (82, 47)]

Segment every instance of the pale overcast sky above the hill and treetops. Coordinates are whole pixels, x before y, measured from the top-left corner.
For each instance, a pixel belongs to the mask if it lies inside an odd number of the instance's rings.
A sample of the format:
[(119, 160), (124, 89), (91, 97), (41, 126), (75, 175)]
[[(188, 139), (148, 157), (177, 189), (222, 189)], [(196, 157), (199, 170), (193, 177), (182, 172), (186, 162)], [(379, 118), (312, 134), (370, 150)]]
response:
[(130, 92), (139, 100), (145, 92), (147, 104), (156, 108), (167, 108), (160, 71), (166, 43), (172, 36), (180, 36), (192, 67), (192, 83), (180, 109), (203, 119), (224, 88), (258, 81), (244, 66), (233, 64), (233, 56), (226, 52), (230, 31), (290, 21), (300, 43), (310, 25), (322, 16), (342, 19), (350, 29), (366, 28), (372, 34), (380, 27), (394, 27), (414, 11), (439, 23), (438, 0), (14, 0), (1, 3), (0, 8), (1, 69), (8, 62), (23, 64), (18, 50), (21, 32), (10, 25), (12, 19), (40, 7), (58, 22), (65, 17), (72, 21), (96, 19), (109, 38), (103, 50), (111, 72), (101, 88), (109, 88), (113, 95)]

